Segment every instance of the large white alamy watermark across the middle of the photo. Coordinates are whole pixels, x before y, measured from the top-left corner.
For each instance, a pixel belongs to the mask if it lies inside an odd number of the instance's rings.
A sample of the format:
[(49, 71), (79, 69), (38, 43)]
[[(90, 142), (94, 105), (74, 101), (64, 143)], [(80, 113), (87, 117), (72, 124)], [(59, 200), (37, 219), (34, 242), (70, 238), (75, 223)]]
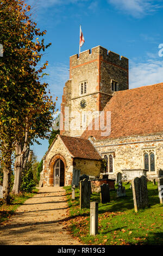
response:
[(71, 111), (65, 107), (64, 114), (59, 112), (58, 118), (53, 122), (53, 130), (80, 131), (95, 130), (101, 131), (101, 136), (109, 136), (111, 132), (111, 112), (110, 111)]

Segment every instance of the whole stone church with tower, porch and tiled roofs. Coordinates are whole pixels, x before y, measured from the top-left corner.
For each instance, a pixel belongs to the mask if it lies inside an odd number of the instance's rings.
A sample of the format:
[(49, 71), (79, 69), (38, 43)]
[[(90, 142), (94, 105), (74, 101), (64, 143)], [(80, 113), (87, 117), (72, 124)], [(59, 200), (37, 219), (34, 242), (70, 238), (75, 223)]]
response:
[[(136, 80), (136, 77), (135, 77)], [(163, 83), (129, 89), (129, 61), (102, 46), (70, 57), (60, 134), (43, 157), (43, 186), (71, 185), (80, 170), (126, 179), (163, 169)]]

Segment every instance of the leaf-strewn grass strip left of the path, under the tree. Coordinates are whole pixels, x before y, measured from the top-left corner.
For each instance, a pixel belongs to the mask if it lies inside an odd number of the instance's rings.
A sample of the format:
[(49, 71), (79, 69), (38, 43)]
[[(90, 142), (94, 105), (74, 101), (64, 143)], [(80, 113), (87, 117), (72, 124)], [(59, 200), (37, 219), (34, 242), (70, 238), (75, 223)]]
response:
[(32, 193), (22, 193), (17, 196), (12, 195), (13, 199), (10, 205), (3, 204), (2, 199), (0, 199), (0, 224), (8, 220), (11, 215), (14, 214), (18, 206), (22, 205), (28, 198), (33, 197), (37, 191), (38, 190), (35, 188)]

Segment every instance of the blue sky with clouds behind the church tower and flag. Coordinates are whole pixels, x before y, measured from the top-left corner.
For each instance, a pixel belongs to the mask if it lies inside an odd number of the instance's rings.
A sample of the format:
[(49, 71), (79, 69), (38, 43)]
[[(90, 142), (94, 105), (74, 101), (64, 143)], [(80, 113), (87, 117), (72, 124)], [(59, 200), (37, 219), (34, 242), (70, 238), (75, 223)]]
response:
[[(85, 43), (81, 51), (101, 45), (129, 58), (129, 88), (163, 82), (163, 1), (152, 0), (27, 0), (33, 19), (52, 42), (42, 58), (48, 60), (44, 78), (60, 103), (69, 78), (69, 57), (79, 52), (79, 25)], [(48, 141), (33, 149), (40, 161)]]

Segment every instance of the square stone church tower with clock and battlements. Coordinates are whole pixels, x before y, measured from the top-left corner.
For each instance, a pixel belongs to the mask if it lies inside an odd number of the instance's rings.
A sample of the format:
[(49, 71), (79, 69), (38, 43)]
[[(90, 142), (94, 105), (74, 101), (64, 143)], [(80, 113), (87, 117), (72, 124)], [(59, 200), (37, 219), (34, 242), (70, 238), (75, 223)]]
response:
[(102, 46), (70, 57), (61, 103), (60, 134), (81, 136), (89, 115), (102, 111), (114, 92), (129, 89), (128, 59)]

